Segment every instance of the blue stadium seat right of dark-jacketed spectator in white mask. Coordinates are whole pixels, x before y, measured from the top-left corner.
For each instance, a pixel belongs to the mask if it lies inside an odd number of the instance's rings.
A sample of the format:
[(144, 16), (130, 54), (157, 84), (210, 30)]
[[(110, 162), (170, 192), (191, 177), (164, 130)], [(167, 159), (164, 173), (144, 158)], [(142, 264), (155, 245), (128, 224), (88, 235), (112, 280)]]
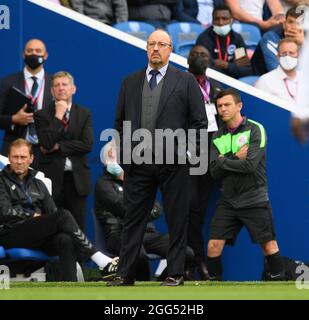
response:
[(255, 50), (261, 40), (261, 31), (259, 27), (254, 24), (236, 21), (233, 23), (232, 29), (242, 35), (247, 49)]

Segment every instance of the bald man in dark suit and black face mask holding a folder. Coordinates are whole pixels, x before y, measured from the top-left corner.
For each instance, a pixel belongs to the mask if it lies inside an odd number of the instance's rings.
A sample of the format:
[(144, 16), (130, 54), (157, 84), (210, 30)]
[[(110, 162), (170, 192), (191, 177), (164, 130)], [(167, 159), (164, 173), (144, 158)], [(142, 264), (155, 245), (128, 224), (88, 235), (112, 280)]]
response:
[[(35, 155), (32, 167), (36, 168), (39, 145), (33, 123), (33, 111), (40, 110), (52, 102), (51, 76), (44, 70), (44, 63), (48, 58), (45, 44), (39, 39), (29, 40), (25, 45), (23, 58), (23, 71), (8, 75), (0, 82), (0, 129), (5, 130), (1, 154), (7, 156), (10, 143), (24, 138), (32, 144)], [(10, 95), (12, 86), (31, 97), (31, 107), (14, 104), (16, 101)]]

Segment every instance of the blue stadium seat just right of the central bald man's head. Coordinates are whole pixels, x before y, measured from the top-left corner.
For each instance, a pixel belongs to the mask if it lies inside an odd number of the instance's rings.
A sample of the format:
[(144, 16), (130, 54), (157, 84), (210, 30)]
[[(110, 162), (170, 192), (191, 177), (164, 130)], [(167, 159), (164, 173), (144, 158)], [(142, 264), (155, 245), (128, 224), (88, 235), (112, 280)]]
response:
[[(182, 52), (184, 55), (190, 51), (188, 51), (188, 48), (190, 45), (195, 44), (197, 37), (205, 28), (198, 23), (174, 22), (168, 24), (166, 30), (173, 39), (174, 52)], [(182, 47), (183, 49), (181, 49)]]

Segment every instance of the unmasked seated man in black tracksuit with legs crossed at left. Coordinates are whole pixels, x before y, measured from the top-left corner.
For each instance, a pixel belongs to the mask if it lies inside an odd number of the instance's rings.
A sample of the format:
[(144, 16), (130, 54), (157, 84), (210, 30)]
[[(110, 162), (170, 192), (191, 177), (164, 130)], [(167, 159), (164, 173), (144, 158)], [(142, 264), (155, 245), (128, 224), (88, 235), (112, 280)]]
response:
[(29, 169), (31, 144), (12, 142), (9, 161), (0, 172), (0, 243), (5, 248), (24, 247), (59, 256), (62, 281), (77, 281), (76, 262), (91, 259), (107, 276), (117, 268), (117, 258), (99, 252), (79, 229), (71, 213), (58, 210), (44, 183)]

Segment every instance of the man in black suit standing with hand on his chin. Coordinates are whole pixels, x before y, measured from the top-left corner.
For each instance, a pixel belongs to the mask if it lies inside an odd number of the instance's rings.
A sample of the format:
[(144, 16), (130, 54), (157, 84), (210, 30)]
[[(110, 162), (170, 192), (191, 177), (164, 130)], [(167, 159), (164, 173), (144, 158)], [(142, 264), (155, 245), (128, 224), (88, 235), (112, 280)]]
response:
[(91, 112), (73, 102), (76, 86), (68, 72), (55, 73), (51, 89), (55, 101), (35, 114), (41, 150), (38, 169), (52, 180), (57, 207), (69, 210), (85, 231), (92, 188), (87, 164), (93, 145)]

